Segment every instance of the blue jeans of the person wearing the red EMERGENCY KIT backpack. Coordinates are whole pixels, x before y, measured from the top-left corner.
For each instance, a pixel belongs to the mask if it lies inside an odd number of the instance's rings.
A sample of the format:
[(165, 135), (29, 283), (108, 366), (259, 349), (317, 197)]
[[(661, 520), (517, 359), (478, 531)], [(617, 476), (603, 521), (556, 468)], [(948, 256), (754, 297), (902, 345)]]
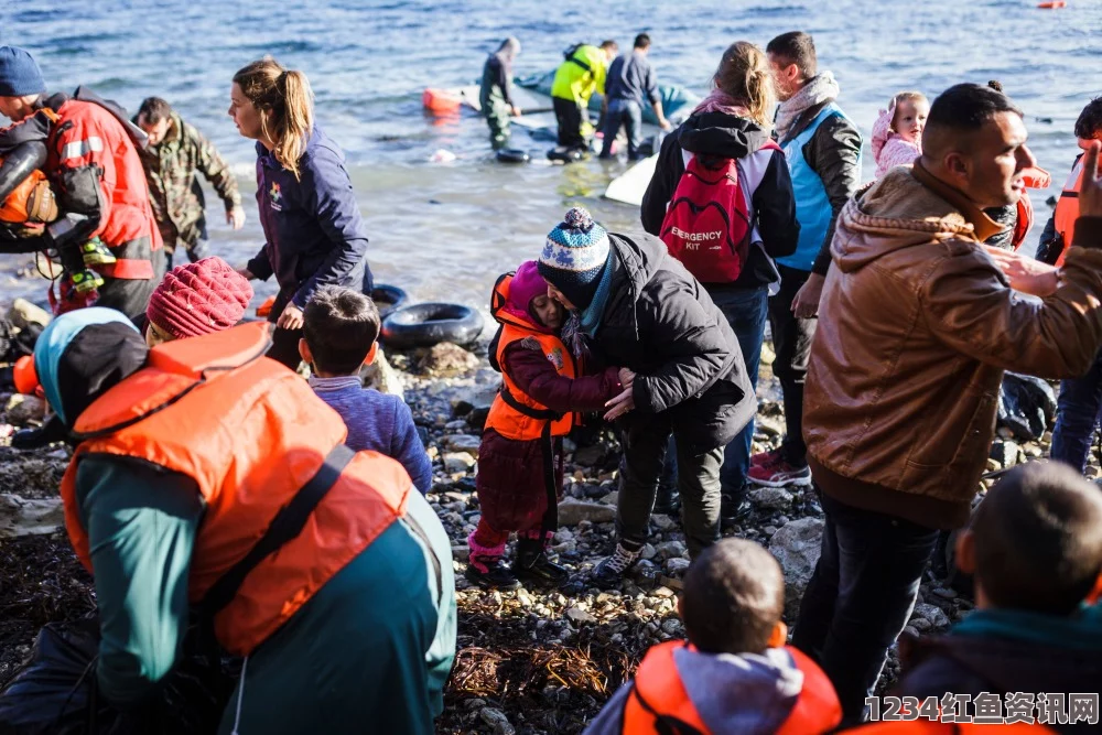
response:
[[(761, 364), (761, 343), (765, 341), (765, 324), (769, 315), (769, 290), (767, 287), (757, 289), (717, 289), (711, 293), (712, 301), (727, 317), (738, 339), (738, 348), (743, 353), (746, 372), (750, 385), (757, 390), (758, 367)], [(725, 495), (742, 500), (743, 484), (746, 482), (746, 471), (750, 466), (750, 442), (754, 441), (754, 419), (735, 436), (723, 454), (723, 467), (720, 469), (720, 484)]]

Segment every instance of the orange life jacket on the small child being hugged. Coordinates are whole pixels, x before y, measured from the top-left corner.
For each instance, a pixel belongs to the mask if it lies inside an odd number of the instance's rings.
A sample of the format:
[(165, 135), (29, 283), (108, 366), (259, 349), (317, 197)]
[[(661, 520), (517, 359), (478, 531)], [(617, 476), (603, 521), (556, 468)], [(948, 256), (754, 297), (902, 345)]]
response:
[[(505, 311), (510, 283), (512, 283), (511, 273), (498, 279), (490, 298), (490, 314), (501, 323), (501, 335), (498, 337), (495, 353), (498, 365), (501, 364), (501, 357), (509, 345), (519, 339), (532, 339), (539, 344), (543, 355), (554, 365), (559, 375), (568, 378), (576, 377), (574, 358), (559, 337), (538, 332), (531, 324)], [(560, 414), (551, 411), (520, 390), (505, 370), (501, 371), (501, 380), (504, 383), (501, 391), (490, 404), (489, 415), (486, 418), (487, 429), (493, 429), (507, 439), (533, 440), (543, 436), (550, 421), (551, 436), (565, 436), (570, 433), (574, 425), (573, 413)]]

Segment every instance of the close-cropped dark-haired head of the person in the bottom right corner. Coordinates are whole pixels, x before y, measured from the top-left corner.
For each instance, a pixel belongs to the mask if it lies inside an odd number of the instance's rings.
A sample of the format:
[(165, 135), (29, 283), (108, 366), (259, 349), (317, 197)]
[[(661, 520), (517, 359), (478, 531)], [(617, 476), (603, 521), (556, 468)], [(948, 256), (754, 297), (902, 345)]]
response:
[(1015, 467), (980, 504), (972, 533), (992, 605), (1069, 615), (1102, 573), (1102, 489), (1058, 462)]

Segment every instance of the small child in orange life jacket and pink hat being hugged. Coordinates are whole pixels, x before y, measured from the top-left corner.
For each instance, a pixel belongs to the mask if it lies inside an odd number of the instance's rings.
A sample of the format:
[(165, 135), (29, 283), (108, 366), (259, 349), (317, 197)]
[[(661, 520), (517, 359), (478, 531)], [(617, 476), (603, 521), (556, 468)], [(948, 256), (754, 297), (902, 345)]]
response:
[[(563, 309), (548, 298), (534, 261), (498, 279), (490, 313), (501, 324), (490, 360), (503, 387), (478, 451), (482, 518), (467, 539), (466, 576), (485, 588), (515, 590), (521, 581), (557, 586), (569, 576), (547, 555), (558, 528), (562, 437), (574, 425), (574, 411), (601, 410), (620, 392), (618, 371), (582, 376), (580, 355), (560, 338)], [(511, 531), (518, 542), (510, 569), (501, 558)]]

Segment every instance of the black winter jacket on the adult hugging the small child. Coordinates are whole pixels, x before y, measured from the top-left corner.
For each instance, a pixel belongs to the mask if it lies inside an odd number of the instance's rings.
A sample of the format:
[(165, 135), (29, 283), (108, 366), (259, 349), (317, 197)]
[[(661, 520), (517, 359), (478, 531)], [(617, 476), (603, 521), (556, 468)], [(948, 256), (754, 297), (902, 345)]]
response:
[(749, 423), (757, 399), (738, 341), (711, 296), (650, 235), (609, 234), (611, 295), (594, 355), (637, 374), (631, 421), (667, 421), (705, 452)]

